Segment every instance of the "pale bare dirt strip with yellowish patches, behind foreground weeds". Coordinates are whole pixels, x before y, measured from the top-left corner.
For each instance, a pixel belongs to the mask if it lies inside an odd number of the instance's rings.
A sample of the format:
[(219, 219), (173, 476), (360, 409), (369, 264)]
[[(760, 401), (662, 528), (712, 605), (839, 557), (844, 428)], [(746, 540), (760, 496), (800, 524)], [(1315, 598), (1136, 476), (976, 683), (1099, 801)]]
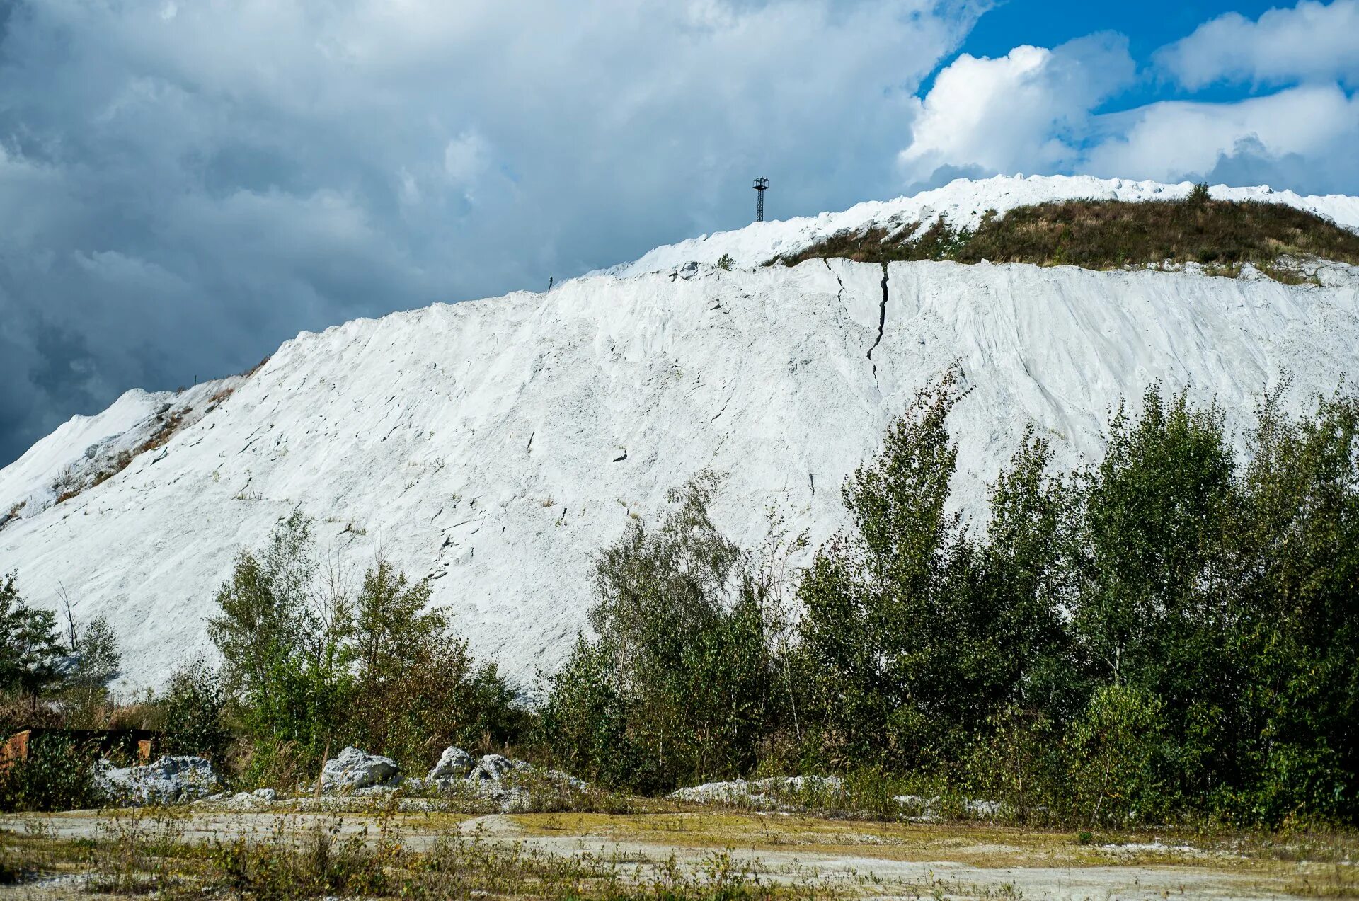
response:
[[(79, 840), (125, 834), (149, 815), (0, 817), (0, 843), (8, 834), (79, 845)], [(639, 882), (666, 866), (699, 872), (715, 855), (726, 853), (762, 885), (826, 889), (844, 897), (1359, 897), (1349, 848), (1332, 847), (1309, 859), (1314, 849), (1305, 845), (1186, 841), (1151, 833), (1117, 840), (1097, 836), (1082, 844), (1071, 833), (977, 824), (883, 824), (709, 809), (470, 815), (193, 807), (154, 817), (164, 817), (158, 828), (173, 828), (185, 843), (238, 836), (277, 841), (321, 824), (340, 837), (395, 836), (414, 852), (451, 836), (474, 837), (488, 847), (607, 860)], [(147, 822), (140, 828), (149, 829)], [(0, 887), (0, 898), (96, 897), (90, 887), (88, 874), (72, 868)]]

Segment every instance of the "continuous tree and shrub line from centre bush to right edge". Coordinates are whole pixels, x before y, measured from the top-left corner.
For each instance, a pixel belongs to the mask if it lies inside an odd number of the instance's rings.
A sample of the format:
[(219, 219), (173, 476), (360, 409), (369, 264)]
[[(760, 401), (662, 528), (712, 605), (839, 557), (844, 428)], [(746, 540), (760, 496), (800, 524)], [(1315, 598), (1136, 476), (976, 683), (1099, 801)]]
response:
[(949, 508), (961, 395), (957, 371), (923, 391), (848, 480), (796, 640), (711, 482), (629, 527), (548, 684), (553, 752), (650, 791), (875, 766), (1022, 818), (1352, 822), (1359, 395), (1269, 394), (1238, 461), (1220, 408), (1155, 387), (1086, 469), (1030, 432), (981, 527)]

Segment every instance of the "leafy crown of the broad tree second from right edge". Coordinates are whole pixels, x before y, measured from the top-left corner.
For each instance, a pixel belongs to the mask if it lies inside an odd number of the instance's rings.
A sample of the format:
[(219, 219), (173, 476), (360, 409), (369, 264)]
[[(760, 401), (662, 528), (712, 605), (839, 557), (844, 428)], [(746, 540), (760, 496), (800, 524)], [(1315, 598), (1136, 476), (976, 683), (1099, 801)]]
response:
[(1210, 569), (1227, 564), (1223, 530), (1239, 504), (1222, 410), (1192, 410), (1182, 394), (1167, 406), (1152, 386), (1136, 421), (1114, 414), (1086, 482), (1082, 651), (1108, 681), (1186, 704), (1218, 678), (1201, 665), (1222, 639), (1227, 573)]

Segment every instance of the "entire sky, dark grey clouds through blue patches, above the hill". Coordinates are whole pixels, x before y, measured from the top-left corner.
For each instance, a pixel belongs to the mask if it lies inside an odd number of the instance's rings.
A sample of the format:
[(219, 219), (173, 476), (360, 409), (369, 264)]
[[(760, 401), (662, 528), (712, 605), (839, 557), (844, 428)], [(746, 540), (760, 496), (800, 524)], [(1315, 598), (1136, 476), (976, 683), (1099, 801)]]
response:
[(0, 465), (299, 330), (957, 177), (1359, 193), (1359, 0), (0, 0)]

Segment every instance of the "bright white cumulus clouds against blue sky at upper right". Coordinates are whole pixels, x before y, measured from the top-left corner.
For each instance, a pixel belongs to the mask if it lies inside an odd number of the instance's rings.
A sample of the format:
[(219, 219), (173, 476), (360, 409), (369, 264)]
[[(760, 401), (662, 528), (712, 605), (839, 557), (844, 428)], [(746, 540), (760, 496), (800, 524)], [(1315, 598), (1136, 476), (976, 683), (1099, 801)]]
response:
[[(900, 152), (902, 186), (957, 175), (1082, 173), (1161, 181), (1272, 183), (1305, 193), (1359, 189), (1359, 0), (1303, 0), (1257, 22), (1222, 16), (1155, 54), (1139, 80), (1127, 43), (1091, 35), (999, 58), (962, 54), (919, 102)], [(1152, 76), (1185, 87), (1273, 86), (1235, 101), (1162, 101), (1108, 110)]]

